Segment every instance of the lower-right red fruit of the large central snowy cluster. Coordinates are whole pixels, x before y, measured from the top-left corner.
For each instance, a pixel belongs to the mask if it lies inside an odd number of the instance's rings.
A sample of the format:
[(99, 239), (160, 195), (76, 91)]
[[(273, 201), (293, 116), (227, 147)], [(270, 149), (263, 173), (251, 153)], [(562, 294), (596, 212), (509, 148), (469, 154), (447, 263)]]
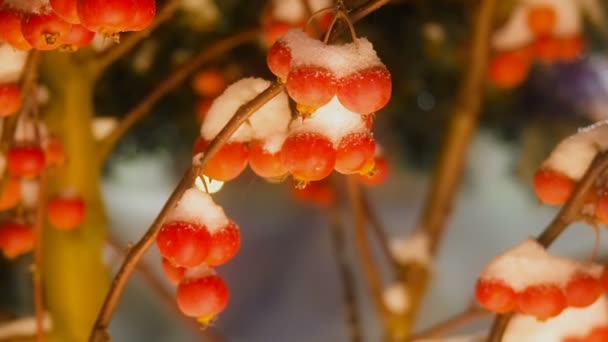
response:
[(368, 173), (374, 167), (376, 141), (369, 133), (352, 133), (340, 141), (336, 149), (336, 171), (352, 175)]

